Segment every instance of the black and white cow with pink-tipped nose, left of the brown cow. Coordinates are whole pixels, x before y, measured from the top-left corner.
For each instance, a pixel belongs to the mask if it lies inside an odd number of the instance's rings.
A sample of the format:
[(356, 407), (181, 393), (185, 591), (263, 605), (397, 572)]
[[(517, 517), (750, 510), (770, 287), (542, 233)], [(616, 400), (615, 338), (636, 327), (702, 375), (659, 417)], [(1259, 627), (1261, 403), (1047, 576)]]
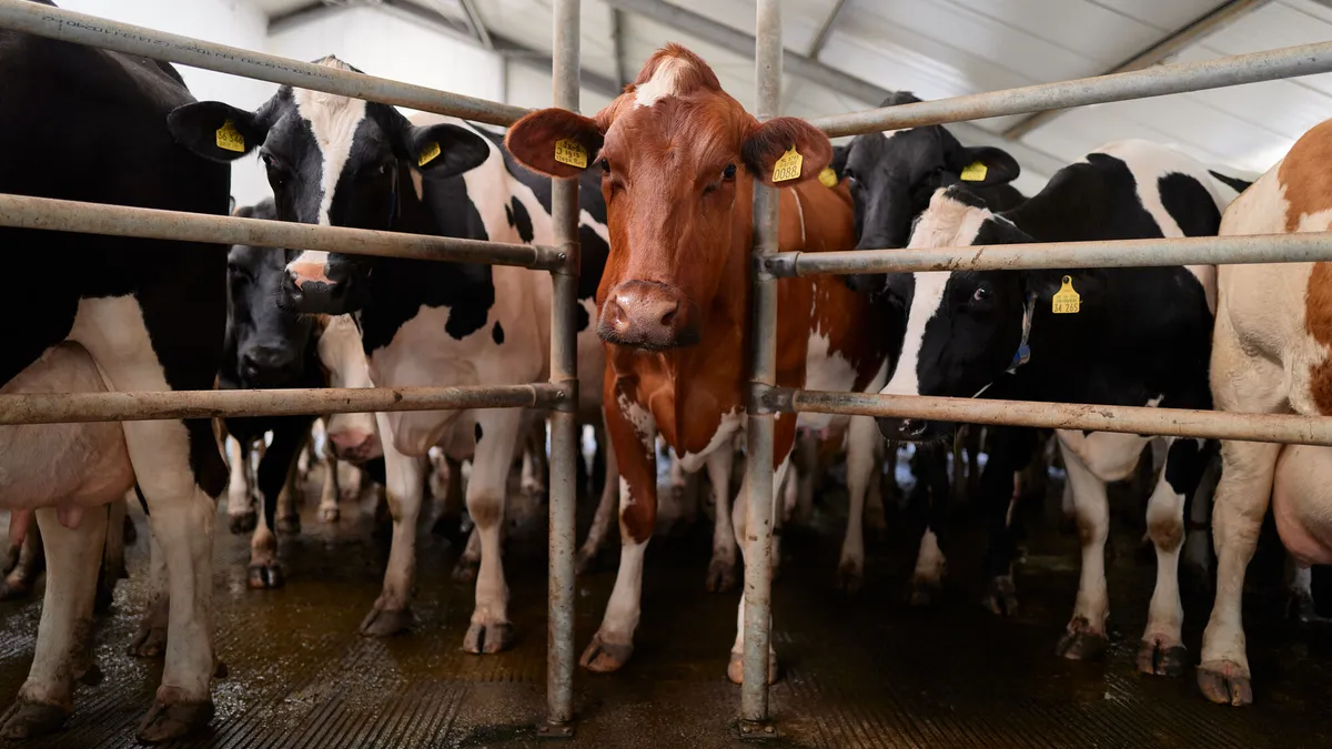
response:
[[(353, 69), (336, 57), (320, 64)], [(258, 149), (282, 220), (553, 241), (549, 180), (518, 168), (497, 136), (460, 120), (421, 117), (413, 124), (393, 107), (284, 87), (256, 112), (220, 103), (184, 107), (173, 113), (172, 128), (197, 153), (230, 160), (241, 153), (216, 145), (216, 131), (228, 121), (246, 152)], [(594, 176), (583, 187), (582, 208), (581, 406), (599, 420), (605, 355), (587, 320), (607, 244)], [(302, 312), (358, 311), (377, 385), (501, 385), (547, 376), (546, 273), (298, 251), (288, 260), (290, 305)], [(530, 417), (514, 409), (377, 414), (394, 532), (384, 590), (362, 632), (390, 634), (410, 622), (424, 458), (432, 446), (446, 445), (456, 456), (473, 456), (466, 502), (481, 541), (476, 609), (464, 648), (493, 653), (511, 642), (500, 526), (509, 465), (523, 418)], [(609, 477), (617, 474), (607, 466)], [(614, 494), (615, 481), (606, 484)]]

